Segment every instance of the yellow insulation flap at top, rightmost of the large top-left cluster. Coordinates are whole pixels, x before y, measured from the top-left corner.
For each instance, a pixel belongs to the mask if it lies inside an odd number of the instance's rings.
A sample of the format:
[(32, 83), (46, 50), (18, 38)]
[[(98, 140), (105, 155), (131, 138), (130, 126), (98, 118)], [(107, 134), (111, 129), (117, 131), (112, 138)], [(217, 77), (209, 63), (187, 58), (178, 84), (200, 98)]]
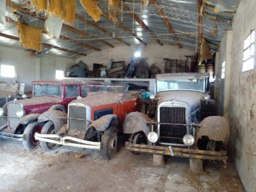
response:
[(75, 0), (61, 0), (62, 17), (66, 23), (75, 22)]

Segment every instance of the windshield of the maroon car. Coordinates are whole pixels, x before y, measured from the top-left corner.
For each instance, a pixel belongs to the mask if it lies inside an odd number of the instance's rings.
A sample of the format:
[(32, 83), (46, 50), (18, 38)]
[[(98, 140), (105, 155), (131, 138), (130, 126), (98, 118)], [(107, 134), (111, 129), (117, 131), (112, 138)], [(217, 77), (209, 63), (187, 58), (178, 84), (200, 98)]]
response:
[(34, 84), (33, 96), (57, 96), (62, 97), (62, 86), (53, 84)]

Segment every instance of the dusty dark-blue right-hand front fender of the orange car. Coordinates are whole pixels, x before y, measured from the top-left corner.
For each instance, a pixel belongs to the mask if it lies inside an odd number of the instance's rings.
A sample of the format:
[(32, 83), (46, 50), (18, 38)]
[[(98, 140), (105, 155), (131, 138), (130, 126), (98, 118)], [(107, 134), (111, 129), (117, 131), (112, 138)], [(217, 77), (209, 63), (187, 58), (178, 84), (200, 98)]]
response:
[(93, 121), (89, 128), (94, 127), (98, 131), (105, 131), (112, 123), (114, 123), (117, 128), (120, 127), (120, 119), (117, 115), (105, 115), (103, 117), (100, 117), (97, 120)]

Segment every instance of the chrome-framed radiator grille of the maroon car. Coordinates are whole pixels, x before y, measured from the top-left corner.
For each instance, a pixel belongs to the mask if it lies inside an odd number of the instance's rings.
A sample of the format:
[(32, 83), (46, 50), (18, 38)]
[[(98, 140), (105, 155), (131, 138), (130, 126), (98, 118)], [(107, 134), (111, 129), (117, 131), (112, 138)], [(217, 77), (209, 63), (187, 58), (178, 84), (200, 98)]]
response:
[(19, 118), (16, 116), (16, 111), (20, 108), (21, 105), (19, 103), (8, 104), (8, 124), (10, 129), (16, 129), (19, 125)]

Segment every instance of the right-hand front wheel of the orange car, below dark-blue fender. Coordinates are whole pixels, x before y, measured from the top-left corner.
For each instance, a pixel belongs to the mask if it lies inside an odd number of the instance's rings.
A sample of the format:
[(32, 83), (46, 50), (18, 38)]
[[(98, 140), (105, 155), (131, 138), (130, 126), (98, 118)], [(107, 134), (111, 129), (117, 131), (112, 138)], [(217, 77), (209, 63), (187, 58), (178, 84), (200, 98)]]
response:
[(104, 159), (110, 160), (117, 154), (117, 128), (110, 126), (108, 130), (104, 131), (101, 137), (101, 155)]

